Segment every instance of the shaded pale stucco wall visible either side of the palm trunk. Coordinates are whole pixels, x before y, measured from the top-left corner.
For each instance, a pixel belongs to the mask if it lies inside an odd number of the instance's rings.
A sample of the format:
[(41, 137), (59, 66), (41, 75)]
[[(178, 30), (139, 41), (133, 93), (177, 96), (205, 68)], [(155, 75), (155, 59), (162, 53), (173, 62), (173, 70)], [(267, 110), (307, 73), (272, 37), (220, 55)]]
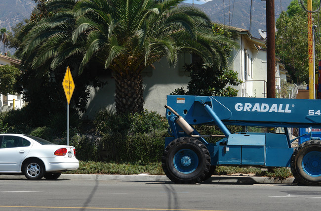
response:
[[(187, 87), (190, 78), (182, 66), (190, 63), (190, 54), (181, 55), (176, 67), (170, 68), (165, 58), (154, 64), (155, 69), (143, 72), (144, 109), (165, 114), (166, 95), (174, 89)], [(112, 77), (101, 79), (107, 81), (103, 88), (90, 89), (90, 98), (87, 103), (87, 112), (84, 118), (93, 119), (100, 109), (115, 110), (115, 81)]]

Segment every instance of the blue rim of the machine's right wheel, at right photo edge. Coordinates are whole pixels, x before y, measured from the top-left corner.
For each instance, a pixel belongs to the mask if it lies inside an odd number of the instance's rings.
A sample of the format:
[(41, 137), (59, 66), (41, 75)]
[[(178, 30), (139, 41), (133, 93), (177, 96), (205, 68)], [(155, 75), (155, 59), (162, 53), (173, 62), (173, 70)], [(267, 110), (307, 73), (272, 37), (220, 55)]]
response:
[(321, 152), (307, 153), (302, 159), (302, 169), (310, 176), (321, 176)]

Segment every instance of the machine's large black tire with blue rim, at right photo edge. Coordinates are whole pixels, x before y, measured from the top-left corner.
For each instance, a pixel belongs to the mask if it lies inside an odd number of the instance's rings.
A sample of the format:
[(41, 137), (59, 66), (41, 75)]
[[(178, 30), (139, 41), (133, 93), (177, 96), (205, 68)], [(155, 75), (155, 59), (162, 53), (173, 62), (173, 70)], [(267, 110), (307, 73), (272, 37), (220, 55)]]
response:
[(321, 141), (303, 142), (291, 157), (291, 171), (303, 185), (321, 186)]

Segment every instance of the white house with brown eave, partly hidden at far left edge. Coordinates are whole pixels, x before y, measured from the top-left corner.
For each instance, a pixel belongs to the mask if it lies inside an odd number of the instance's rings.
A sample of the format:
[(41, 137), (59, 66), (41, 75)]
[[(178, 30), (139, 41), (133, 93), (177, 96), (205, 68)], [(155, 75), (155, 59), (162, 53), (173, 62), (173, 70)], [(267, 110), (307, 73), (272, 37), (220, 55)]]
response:
[[(0, 66), (1, 65), (13, 65), (19, 68), (21, 61), (18, 59), (14, 59), (8, 56), (4, 56), (0, 54)], [(14, 101), (14, 102), (13, 102)], [(0, 112), (9, 111), (13, 108), (13, 104), (15, 108), (22, 108), (24, 105), (21, 96), (18, 94), (7, 94), (0, 93)]]

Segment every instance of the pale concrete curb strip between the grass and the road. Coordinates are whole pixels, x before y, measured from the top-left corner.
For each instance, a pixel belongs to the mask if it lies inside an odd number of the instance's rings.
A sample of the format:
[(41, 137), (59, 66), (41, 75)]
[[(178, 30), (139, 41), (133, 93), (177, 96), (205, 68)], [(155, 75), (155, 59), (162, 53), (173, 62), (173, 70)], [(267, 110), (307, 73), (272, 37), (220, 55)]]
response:
[[(0, 179), (26, 179), (24, 175), (0, 175)], [(118, 181), (146, 181), (146, 182), (171, 182), (163, 175), (115, 175), (115, 174), (61, 174), (59, 179), (77, 179), (77, 180), (118, 180)], [(293, 184), (294, 178), (280, 180), (277, 178), (261, 176), (226, 176), (213, 175), (202, 183), (240, 183), (240, 184)], [(295, 184), (295, 183), (294, 183)]]

